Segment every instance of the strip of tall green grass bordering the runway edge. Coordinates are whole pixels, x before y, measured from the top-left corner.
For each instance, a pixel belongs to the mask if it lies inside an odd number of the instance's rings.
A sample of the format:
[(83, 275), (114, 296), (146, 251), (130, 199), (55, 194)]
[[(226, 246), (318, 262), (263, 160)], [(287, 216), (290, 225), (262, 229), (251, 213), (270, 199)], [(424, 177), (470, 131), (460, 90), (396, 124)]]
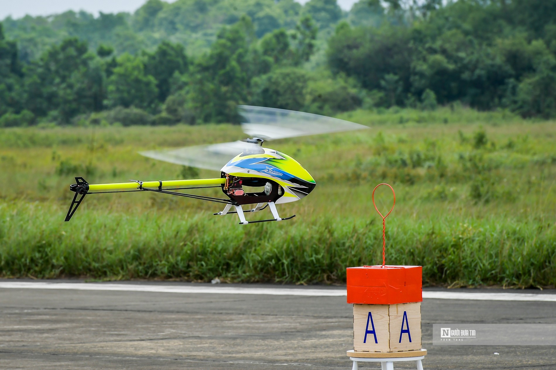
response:
[[(240, 227), (222, 217), (178, 218), (3, 204), (3, 276), (183, 278), (235, 282), (340, 283), (345, 267), (381, 263), (379, 223), (313, 217)], [(423, 265), (425, 283), (458, 286), (556, 285), (556, 227), (535, 219), (458, 217), (388, 225), (386, 261)]]

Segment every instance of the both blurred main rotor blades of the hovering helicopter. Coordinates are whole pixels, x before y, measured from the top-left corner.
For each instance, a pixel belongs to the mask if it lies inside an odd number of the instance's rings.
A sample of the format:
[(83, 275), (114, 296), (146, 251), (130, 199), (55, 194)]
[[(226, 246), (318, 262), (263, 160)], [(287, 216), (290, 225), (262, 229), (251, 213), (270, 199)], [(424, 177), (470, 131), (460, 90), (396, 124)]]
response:
[[(244, 118), (241, 124), (244, 133), (264, 140), (368, 129), (364, 125), (319, 114), (251, 105), (239, 105), (238, 108)], [(183, 166), (220, 170), (234, 156), (257, 148), (258, 144), (232, 141), (177, 149), (148, 150), (141, 151), (140, 154)]]

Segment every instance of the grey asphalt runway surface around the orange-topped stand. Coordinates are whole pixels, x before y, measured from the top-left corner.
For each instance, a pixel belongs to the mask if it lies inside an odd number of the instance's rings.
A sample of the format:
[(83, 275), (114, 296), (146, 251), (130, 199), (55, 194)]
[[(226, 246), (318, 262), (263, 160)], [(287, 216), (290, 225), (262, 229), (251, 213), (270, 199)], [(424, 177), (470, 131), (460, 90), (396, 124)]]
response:
[[(342, 296), (0, 288), (0, 369), (351, 369), (351, 310)], [(556, 302), (425, 298), (421, 311), (425, 369), (556, 369), (552, 346), (432, 345), (433, 323), (556, 324)]]

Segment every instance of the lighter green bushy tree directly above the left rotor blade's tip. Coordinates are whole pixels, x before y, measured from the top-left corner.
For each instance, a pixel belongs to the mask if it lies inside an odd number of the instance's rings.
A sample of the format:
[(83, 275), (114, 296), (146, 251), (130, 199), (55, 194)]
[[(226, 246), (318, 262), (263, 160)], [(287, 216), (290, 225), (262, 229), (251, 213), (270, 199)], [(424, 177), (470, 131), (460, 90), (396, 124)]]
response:
[(123, 54), (118, 58), (108, 79), (107, 105), (109, 107), (136, 107), (152, 110), (156, 105), (158, 89), (156, 79), (145, 74), (140, 58)]

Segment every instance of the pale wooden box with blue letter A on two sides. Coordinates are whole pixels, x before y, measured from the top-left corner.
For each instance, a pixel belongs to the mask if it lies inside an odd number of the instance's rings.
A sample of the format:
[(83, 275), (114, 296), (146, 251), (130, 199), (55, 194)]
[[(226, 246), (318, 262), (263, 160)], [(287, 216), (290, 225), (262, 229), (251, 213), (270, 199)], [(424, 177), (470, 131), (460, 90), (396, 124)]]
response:
[(353, 305), (355, 351), (398, 352), (421, 349), (421, 302)]

